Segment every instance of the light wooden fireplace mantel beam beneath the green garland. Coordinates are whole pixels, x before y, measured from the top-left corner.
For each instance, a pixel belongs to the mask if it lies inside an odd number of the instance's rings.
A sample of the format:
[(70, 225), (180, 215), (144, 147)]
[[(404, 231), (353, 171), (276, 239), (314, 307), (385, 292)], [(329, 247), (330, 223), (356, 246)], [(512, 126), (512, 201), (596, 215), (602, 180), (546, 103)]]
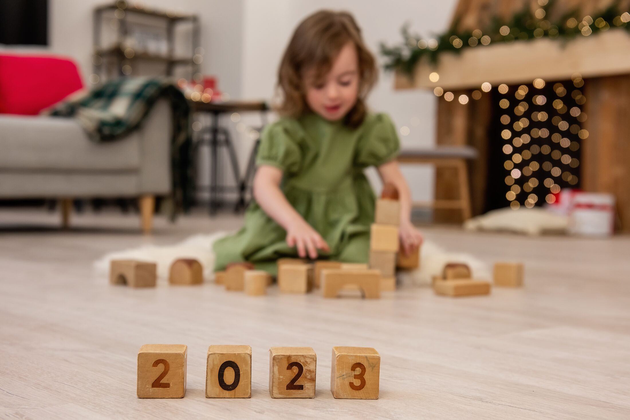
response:
[[(413, 77), (396, 73), (396, 89), (445, 90), (479, 88), (483, 82), (530, 83), (570, 79), (576, 72), (583, 78), (630, 74), (630, 35), (624, 30), (579, 36), (573, 40), (541, 38), (529, 42), (496, 43), (466, 48), (461, 54), (440, 55), (438, 65), (426, 60), (416, 66)], [(437, 72), (437, 82), (429, 74)]]

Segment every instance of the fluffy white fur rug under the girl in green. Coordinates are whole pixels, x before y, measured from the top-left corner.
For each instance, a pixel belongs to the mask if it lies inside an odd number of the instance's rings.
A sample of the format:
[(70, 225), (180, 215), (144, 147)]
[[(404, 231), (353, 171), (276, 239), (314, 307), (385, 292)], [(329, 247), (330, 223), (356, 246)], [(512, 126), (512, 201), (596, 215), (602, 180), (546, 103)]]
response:
[[(226, 234), (227, 232), (216, 232), (208, 235), (198, 234), (171, 246), (149, 245), (109, 253), (95, 261), (94, 268), (98, 276), (108, 278), (110, 261), (112, 259), (151, 261), (157, 263), (158, 284), (166, 284), (168, 271), (173, 261), (178, 258), (195, 258), (203, 266), (204, 278), (209, 281), (214, 280), (212, 273), (212, 268), (214, 267), (212, 244)], [(401, 271), (398, 274), (398, 278), (403, 285), (430, 285), (433, 276), (441, 275), (447, 263), (468, 264), (475, 279), (490, 280), (491, 278), (490, 269), (483, 261), (470, 254), (449, 253), (432, 241), (425, 241), (422, 244), (420, 269)]]

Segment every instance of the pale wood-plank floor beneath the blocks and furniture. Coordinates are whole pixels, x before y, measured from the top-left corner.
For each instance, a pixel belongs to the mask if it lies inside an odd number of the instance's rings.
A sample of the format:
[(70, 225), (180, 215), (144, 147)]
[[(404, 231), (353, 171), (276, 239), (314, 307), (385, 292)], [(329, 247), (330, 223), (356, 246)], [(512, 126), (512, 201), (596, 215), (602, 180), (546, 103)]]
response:
[[(447, 298), (430, 288), (380, 300), (246, 297), (221, 287), (112, 287), (91, 263), (107, 251), (230, 229), (197, 215), (142, 237), (132, 216), (0, 212), (2, 419), (629, 419), (630, 238), (586, 240), (425, 229), (492, 263), (520, 259), (525, 287)], [(36, 227), (38, 226), (38, 227)], [(183, 399), (135, 395), (145, 343), (188, 345)], [(206, 399), (209, 344), (253, 348), (251, 399)], [(312, 346), (315, 399), (270, 398), (270, 346)], [(381, 353), (381, 397), (335, 400), (332, 346)]]

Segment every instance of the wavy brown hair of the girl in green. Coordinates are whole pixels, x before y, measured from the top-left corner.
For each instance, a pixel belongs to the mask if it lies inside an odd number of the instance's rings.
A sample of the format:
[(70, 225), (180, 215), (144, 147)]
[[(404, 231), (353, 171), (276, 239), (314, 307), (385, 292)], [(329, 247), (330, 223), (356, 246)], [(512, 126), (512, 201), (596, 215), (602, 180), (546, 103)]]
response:
[(361, 30), (350, 13), (318, 11), (300, 23), (293, 33), (278, 69), (278, 88), (282, 99), (276, 110), (283, 116), (301, 116), (306, 103), (304, 72), (314, 70), (316, 79), (324, 77), (346, 43), (352, 42), (358, 56), (358, 98), (345, 116), (345, 123), (357, 127), (363, 122), (365, 98), (374, 86), (378, 70), (374, 56), (365, 47)]

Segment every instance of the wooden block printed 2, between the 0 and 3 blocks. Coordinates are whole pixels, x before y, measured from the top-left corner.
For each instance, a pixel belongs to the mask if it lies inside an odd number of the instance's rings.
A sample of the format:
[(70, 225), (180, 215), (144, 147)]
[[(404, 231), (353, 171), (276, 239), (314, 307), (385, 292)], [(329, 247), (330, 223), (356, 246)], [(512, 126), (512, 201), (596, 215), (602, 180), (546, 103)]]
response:
[(314, 398), (317, 356), (311, 347), (269, 349), (272, 398)]

